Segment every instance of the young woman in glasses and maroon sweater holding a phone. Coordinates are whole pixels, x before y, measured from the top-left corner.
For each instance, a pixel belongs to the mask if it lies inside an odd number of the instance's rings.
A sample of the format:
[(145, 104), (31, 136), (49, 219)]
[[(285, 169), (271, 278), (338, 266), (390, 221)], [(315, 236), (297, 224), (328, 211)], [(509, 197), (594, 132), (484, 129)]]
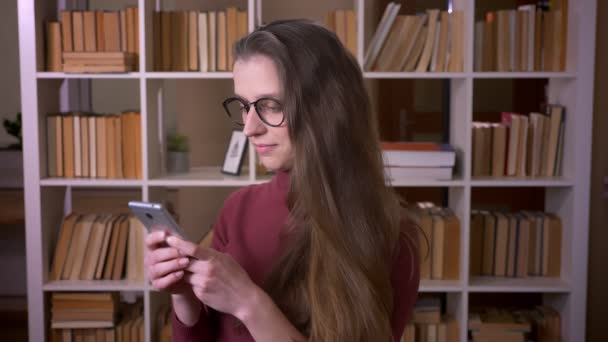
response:
[(276, 175), (226, 200), (210, 249), (147, 236), (174, 341), (399, 341), (418, 237), (385, 185), (357, 62), (306, 20), (260, 27), (233, 51), (224, 108)]

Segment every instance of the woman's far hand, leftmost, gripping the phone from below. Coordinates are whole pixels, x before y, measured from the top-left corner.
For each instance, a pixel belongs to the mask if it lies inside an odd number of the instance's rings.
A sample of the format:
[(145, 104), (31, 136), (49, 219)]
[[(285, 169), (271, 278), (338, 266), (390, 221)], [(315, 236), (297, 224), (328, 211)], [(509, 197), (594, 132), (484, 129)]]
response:
[(184, 281), (184, 269), (190, 260), (176, 248), (166, 245), (168, 236), (165, 231), (154, 231), (146, 236), (144, 264), (148, 279), (157, 290), (179, 295), (191, 293), (190, 285)]

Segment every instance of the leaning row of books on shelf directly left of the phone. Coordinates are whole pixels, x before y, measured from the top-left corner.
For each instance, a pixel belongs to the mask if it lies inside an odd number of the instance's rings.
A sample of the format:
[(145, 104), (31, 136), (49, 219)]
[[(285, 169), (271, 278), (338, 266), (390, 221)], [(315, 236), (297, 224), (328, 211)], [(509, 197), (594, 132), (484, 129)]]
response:
[(143, 282), (145, 233), (130, 214), (71, 213), (59, 228), (49, 279)]

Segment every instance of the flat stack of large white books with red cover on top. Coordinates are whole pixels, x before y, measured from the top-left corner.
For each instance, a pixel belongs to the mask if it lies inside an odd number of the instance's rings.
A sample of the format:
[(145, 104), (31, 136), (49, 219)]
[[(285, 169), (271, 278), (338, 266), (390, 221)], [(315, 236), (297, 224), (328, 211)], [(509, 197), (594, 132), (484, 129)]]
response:
[(449, 180), (456, 162), (451, 145), (421, 142), (382, 142), (387, 177), (397, 179)]

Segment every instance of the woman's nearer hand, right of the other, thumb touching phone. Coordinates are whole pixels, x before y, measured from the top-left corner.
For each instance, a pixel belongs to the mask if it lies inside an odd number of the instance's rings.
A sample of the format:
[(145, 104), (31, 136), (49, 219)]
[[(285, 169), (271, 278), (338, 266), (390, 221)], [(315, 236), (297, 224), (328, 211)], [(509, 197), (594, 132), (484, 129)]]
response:
[(259, 288), (230, 255), (198, 246), (175, 236), (167, 244), (192, 259), (185, 269), (184, 281), (194, 295), (216, 311), (244, 321), (252, 311)]

